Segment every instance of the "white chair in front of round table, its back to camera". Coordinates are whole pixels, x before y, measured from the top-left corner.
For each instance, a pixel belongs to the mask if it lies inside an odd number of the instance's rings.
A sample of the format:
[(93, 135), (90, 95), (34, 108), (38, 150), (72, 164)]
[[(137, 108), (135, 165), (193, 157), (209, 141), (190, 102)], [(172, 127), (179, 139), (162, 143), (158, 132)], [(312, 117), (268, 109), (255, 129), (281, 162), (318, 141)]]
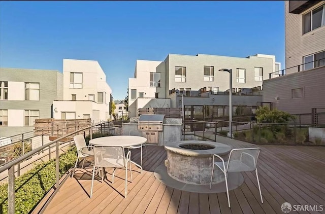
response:
[(131, 182), (132, 181), (132, 170), (131, 170), (131, 151), (128, 151), (125, 157), (124, 147), (117, 146), (94, 146), (94, 165), (92, 170), (92, 180), (91, 180), (91, 190), (90, 190), (90, 198), (92, 196), (92, 187), (93, 180), (95, 175), (95, 170), (102, 168), (102, 182), (104, 179), (104, 168), (111, 167), (114, 168), (112, 174), (112, 184), (114, 183), (114, 173), (116, 168), (125, 168), (125, 194), (124, 198), (126, 198), (127, 194), (127, 164), (129, 164), (129, 170), (131, 173)]

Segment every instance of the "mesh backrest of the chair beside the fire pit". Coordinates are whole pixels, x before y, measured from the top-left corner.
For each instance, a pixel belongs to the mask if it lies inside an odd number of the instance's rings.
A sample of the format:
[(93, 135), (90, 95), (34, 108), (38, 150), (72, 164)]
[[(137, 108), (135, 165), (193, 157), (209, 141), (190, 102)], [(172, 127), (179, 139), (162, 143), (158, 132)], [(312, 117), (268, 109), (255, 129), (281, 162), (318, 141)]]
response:
[(260, 148), (233, 149), (229, 154), (228, 172), (253, 171), (257, 166)]

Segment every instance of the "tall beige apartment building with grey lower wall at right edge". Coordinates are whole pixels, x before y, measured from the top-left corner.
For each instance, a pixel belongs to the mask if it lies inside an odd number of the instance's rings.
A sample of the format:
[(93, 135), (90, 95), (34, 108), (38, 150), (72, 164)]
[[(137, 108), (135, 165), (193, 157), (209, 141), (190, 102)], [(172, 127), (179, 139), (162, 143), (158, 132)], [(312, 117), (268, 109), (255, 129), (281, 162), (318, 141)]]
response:
[(284, 8), (286, 75), (263, 82), (263, 101), (310, 114), (325, 108), (325, 1), (285, 1)]

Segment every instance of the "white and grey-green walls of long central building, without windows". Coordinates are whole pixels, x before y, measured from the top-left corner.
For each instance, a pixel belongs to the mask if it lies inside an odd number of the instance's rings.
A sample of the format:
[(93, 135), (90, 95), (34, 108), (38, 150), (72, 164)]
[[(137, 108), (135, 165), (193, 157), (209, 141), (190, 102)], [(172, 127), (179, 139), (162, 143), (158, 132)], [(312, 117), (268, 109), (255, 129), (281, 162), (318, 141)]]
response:
[[(170, 95), (172, 89), (189, 88), (198, 91), (203, 87), (218, 87), (220, 91), (229, 89), (229, 73), (218, 72), (221, 68), (232, 69), (233, 88), (252, 88), (262, 86), (262, 80), (255, 81), (254, 67), (263, 68), (263, 80), (269, 79), (269, 73), (275, 72), (275, 56), (256, 54), (246, 58), (214, 56), (198, 54), (197, 56), (169, 54), (164, 61), (137, 60), (135, 77), (128, 81), (128, 111), (130, 117), (137, 115), (139, 108), (146, 108), (148, 103), (139, 99), (139, 92), (144, 92), (144, 98), (154, 100), (155, 93), (158, 98), (170, 98), (170, 108), (177, 108), (176, 96)], [(186, 67), (186, 82), (175, 82), (175, 66)], [(204, 66), (214, 67), (214, 80), (204, 80)], [(245, 83), (237, 83), (236, 69), (245, 69)], [(160, 73), (160, 87), (150, 87), (150, 73)], [(136, 89), (136, 97), (132, 99), (132, 89)], [(196, 98), (199, 100), (200, 98)], [(162, 103), (154, 105), (150, 101), (150, 108), (161, 108)], [(192, 99), (194, 100), (194, 99)], [(159, 100), (161, 101), (161, 100)], [(198, 101), (200, 102), (200, 101)], [(166, 105), (166, 104), (165, 104)], [(176, 106), (177, 105), (177, 106)]]

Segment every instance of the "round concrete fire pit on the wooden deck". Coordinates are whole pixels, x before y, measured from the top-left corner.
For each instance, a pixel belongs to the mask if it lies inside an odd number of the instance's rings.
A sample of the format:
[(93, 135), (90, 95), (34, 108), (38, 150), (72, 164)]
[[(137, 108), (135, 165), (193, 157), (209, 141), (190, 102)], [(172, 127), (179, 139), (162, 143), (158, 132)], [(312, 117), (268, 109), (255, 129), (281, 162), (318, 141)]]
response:
[[(212, 172), (213, 154), (226, 156), (231, 147), (218, 142), (203, 140), (177, 141), (165, 146), (167, 173), (173, 179), (186, 184), (209, 185)], [(216, 159), (216, 161), (218, 161)], [(224, 181), (221, 170), (215, 170), (212, 184)]]

